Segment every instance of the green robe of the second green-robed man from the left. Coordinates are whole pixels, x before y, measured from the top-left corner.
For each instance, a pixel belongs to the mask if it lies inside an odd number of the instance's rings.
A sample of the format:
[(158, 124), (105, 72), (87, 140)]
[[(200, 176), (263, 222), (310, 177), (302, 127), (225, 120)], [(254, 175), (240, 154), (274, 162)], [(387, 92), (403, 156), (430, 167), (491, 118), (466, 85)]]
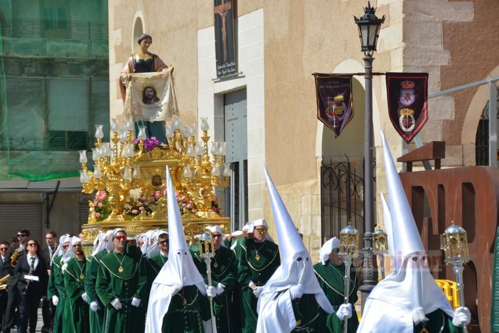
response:
[(83, 283), (85, 282), (87, 260), (79, 261), (76, 257), (67, 262), (64, 271), (64, 287), (66, 289), (66, 301), (64, 304), (64, 333), (89, 333), (88, 304), (83, 301), (81, 295), (85, 293)]

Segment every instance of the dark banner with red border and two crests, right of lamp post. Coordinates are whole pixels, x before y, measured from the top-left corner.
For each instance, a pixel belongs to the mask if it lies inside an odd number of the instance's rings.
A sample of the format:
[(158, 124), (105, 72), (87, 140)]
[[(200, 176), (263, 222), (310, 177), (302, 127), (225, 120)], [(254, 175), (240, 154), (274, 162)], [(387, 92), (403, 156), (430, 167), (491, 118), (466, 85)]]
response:
[(428, 120), (428, 73), (386, 73), (388, 114), (409, 143)]

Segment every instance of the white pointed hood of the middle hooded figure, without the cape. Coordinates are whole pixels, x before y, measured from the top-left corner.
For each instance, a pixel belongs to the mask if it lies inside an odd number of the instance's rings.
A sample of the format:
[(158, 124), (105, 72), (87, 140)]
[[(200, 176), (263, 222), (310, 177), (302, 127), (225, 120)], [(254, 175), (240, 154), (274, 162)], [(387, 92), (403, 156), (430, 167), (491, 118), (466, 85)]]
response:
[[(314, 294), (317, 303), (324, 311), (333, 312), (312, 268), (312, 260), (308, 254), (300, 235), (296, 231), (293, 221), (282, 202), (266, 168), (265, 180), (267, 183), (270, 204), (275, 221), (275, 229), (279, 240), (281, 265), (265, 284), (262, 294), (275, 293), (289, 289), (298, 284), (303, 285), (303, 294)], [(262, 305), (258, 299), (258, 308)]]

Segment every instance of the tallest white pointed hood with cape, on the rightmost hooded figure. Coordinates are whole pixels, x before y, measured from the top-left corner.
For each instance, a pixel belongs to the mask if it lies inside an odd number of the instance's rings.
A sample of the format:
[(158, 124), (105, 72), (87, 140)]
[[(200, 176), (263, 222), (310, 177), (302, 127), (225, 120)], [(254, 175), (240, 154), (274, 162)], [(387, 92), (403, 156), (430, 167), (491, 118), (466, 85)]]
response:
[[(357, 332), (403, 333), (409, 332), (409, 326), (412, 332), (410, 314), (416, 308), (423, 308), (425, 314), (441, 309), (451, 317), (454, 317), (454, 311), (428, 269), (426, 252), (383, 132), (381, 132), (381, 140), (390, 204), (386, 205), (384, 197), (381, 200), (394, 270), (369, 294)], [(376, 300), (396, 307), (405, 315), (394, 316), (387, 327), (383, 311), (389, 311), (386, 309), (390, 307), (380, 310)], [(385, 318), (385, 320), (380, 321), (380, 318)]]

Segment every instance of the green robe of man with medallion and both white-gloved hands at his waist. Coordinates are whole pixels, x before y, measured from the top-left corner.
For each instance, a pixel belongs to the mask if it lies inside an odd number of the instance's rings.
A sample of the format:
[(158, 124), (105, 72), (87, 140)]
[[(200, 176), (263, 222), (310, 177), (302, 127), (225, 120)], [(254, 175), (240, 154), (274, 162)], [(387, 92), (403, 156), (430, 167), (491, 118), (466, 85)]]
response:
[[(95, 291), (105, 306), (102, 332), (144, 332), (147, 274), (142, 254), (137, 251), (124, 254), (113, 251), (102, 257), (100, 262)], [(119, 272), (120, 263), (123, 272)], [(120, 310), (111, 305), (116, 297), (121, 302)], [(137, 308), (131, 305), (134, 297), (141, 300)]]

